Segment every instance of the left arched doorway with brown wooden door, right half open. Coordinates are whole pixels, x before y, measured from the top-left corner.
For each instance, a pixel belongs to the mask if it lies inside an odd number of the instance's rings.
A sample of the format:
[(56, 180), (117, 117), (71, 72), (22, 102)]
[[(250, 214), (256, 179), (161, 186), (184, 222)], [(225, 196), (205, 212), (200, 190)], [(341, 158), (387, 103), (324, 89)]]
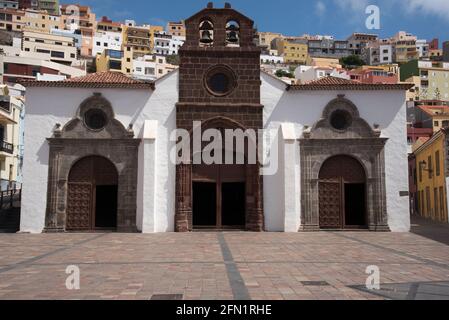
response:
[(116, 230), (117, 196), (118, 173), (110, 160), (78, 160), (69, 173), (66, 230)]

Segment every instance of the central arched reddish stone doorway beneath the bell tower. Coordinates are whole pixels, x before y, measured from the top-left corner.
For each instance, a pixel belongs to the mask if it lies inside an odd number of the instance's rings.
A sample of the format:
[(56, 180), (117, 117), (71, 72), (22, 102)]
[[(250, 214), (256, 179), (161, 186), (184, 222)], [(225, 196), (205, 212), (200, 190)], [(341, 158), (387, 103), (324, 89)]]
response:
[[(201, 132), (217, 129), (222, 137), (225, 137), (224, 130), (246, 131), (243, 125), (225, 117), (206, 120), (201, 129)], [(193, 135), (191, 131), (192, 139)], [(250, 140), (245, 138), (244, 152), (240, 153), (227, 150), (225, 140), (223, 160), (232, 152), (234, 164), (194, 164), (197, 161), (193, 161), (192, 152), (189, 162), (177, 166), (176, 231), (211, 228), (263, 231), (262, 177), (257, 159), (255, 164), (254, 159), (248, 160), (251, 159), (248, 153)], [(254, 155), (257, 157), (257, 141), (251, 141), (255, 143)], [(242, 156), (243, 162), (240, 162)], [(203, 214), (207, 216), (205, 219), (202, 219)]]

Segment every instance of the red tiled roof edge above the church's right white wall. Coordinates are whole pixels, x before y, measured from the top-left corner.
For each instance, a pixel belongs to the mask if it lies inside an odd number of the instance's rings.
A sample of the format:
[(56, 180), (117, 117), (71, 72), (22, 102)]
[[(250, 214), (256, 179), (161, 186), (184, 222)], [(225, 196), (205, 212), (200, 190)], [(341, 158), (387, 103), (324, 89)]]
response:
[(409, 90), (411, 83), (369, 84), (337, 77), (324, 77), (304, 84), (289, 85), (287, 90)]

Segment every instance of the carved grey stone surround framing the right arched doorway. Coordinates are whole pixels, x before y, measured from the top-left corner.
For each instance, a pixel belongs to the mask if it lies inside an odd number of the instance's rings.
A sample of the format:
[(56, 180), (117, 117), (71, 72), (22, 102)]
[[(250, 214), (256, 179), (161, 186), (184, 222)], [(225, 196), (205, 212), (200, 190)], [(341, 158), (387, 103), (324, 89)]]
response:
[[(343, 110), (351, 116), (344, 130), (332, 126), (331, 115)], [(347, 155), (357, 159), (366, 171), (368, 227), (389, 231), (386, 208), (385, 156), (387, 139), (360, 118), (357, 107), (340, 95), (325, 107), (321, 119), (299, 140), (301, 158), (301, 228), (319, 230), (319, 173), (325, 161)]]

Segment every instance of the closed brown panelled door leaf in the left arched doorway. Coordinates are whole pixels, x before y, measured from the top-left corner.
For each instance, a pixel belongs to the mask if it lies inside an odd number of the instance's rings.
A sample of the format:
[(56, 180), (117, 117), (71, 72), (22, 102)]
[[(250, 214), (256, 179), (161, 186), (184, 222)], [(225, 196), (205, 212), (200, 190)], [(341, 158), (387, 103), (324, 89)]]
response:
[(69, 183), (66, 229), (91, 230), (92, 206), (92, 184)]

